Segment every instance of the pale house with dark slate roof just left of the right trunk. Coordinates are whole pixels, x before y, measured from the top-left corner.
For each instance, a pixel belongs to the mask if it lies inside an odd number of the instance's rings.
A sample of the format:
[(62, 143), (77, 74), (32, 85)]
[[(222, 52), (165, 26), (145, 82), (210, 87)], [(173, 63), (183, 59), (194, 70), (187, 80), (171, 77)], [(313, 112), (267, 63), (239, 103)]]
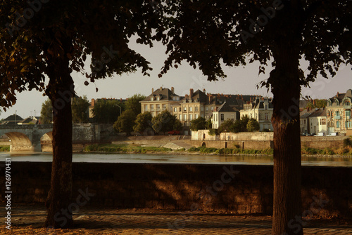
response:
[(272, 100), (269, 98), (257, 97), (255, 100), (247, 102), (240, 110), (240, 116), (247, 115), (249, 119), (256, 119), (259, 123), (259, 131), (273, 130), (271, 116), (274, 108)]

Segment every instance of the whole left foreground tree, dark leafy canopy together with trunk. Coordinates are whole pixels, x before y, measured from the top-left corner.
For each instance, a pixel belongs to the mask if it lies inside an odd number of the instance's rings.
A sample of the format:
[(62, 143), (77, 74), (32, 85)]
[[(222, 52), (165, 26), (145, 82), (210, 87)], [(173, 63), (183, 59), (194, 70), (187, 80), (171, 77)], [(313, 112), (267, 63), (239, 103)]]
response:
[[(33, 89), (51, 100), (54, 152), (45, 225), (72, 227), (72, 211), (61, 212), (69, 208), (72, 190), (70, 102), (75, 86), (70, 74), (82, 73), (86, 85), (137, 68), (148, 75), (149, 62), (129, 43), (132, 36), (149, 46), (161, 40), (163, 12), (141, 0), (5, 0), (0, 9), (0, 105), (6, 109), (15, 104), (16, 93)], [(85, 62), (91, 71), (84, 69)]]

